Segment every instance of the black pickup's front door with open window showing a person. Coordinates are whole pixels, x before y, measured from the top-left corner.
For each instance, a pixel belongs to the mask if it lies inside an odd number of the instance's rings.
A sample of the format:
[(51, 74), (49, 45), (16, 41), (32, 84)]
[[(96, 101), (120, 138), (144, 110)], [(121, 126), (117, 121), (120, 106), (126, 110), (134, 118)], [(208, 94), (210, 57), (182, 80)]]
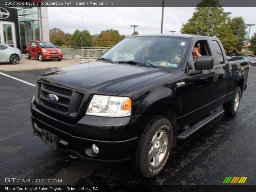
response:
[[(202, 55), (212, 55), (211, 45), (208, 40), (197, 40), (194, 42), (200, 42), (201, 53)], [(202, 46), (203, 45), (203, 46)], [(209, 46), (210, 45), (210, 46)], [(194, 46), (191, 47), (191, 53)], [(208, 49), (208, 50), (203, 50)], [(215, 59), (215, 58), (214, 58)], [(188, 69), (189, 65), (194, 67), (194, 61), (192, 54), (188, 60)], [(195, 69), (195, 68), (194, 68)], [(182, 98), (182, 107), (180, 117), (181, 122), (190, 123), (215, 108), (216, 100), (216, 89), (218, 81), (218, 68), (214, 66), (210, 70), (203, 70), (202, 74), (189, 75), (187, 72), (185, 74), (185, 87), (179, 93)]]

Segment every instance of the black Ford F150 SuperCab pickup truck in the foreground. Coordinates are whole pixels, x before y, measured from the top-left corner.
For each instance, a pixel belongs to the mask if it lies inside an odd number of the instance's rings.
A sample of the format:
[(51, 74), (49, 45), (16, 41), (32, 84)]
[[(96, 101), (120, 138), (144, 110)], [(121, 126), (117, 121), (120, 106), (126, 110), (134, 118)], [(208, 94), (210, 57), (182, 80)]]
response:
[(130, 160), (135, 172), (151, 178), (177, 139), (223, 112), (236, 115), (248, 74), (248, 61), (228, 61), (218, 38), (127, 37), (96, 62), (38, 77), (33, 131), (80, 157)]

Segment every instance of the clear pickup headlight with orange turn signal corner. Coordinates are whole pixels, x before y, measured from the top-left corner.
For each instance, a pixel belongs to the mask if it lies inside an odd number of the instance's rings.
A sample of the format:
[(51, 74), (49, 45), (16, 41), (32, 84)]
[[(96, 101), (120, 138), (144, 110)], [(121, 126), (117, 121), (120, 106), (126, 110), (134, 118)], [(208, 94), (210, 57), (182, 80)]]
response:
[(130, 116), (132, 100), (129, 97), (94, 95), (86, 115), (124, 117)]

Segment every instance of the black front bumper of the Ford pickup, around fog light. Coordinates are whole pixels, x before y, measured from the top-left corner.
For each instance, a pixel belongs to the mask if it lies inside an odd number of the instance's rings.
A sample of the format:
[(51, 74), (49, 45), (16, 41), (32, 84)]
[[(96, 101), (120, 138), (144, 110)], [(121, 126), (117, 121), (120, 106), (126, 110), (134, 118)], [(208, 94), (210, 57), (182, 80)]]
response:
[[(128, 160), (132, 156), (137, 137), (127, 138), (127, 135), (135, 135), (132, 130), (137, 128), (137, 118), (138, 116), (124, 118), (84, 116), (75, 125), (68, 125), (44, 114), (35, 104), (31, 105), (32, 127), (39, 137), (42, 138), (42, 129), (44, 129), (58, 137), (58, 148), (76, 153), (82, 158), (110, 162)], [(117, 139), (118, 135), (120, 139)], [(92, 144), (98, 146), (98, 154), (90, 152)]]

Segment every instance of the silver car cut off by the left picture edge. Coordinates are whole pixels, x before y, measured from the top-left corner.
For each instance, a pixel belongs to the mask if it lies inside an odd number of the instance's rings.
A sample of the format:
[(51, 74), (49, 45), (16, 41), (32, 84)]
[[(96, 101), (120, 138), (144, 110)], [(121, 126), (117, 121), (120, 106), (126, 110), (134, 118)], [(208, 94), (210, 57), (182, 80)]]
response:
[(0, 44), (0, 63), (18, 64), (22, 59), (19, 49)]

